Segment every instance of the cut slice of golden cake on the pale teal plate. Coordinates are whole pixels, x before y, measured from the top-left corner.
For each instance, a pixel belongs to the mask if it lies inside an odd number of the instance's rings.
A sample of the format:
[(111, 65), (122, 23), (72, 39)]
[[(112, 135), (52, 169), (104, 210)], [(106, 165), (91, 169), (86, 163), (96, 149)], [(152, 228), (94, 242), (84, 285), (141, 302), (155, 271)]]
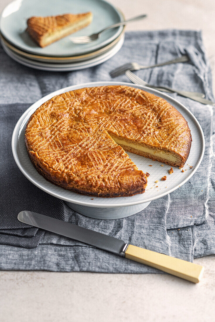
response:
[(92, 17), (91, 12), (31, 17), (27, 20), (27, 32), (40, 47), (45, 47), (86, 27), (91, 23)]

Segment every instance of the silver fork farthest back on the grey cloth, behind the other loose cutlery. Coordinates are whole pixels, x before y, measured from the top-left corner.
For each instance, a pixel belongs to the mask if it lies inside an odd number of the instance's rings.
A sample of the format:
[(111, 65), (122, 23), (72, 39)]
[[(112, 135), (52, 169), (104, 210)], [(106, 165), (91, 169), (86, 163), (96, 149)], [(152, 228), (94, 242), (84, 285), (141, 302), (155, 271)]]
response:
[(139, 71), (140, 69), (147, 69), (147, 68), (153, 68), (153, 67), (158, 67), (158, 66), (164, 66), (164, 65), (168, 65), (168, 64), (173, 64), (176, 62), (188, 62), (189, 58), (187, 55), (183, 55), (181, 57), (175, 58), (171, 61), (167, 61), (167, 62), (161, 62), (160, 64), (155, 64), (155, 65), (150, 65), (150, 66), (143, 66), (138, 64), (137, 62), (129, 62), (127, 64), (124, 64), (114, 70), (112, 70), (110, 72), (110, 75), (112, 78), (117, 77), (119, 75), (124, 74), (128, 69), (130, 71)]

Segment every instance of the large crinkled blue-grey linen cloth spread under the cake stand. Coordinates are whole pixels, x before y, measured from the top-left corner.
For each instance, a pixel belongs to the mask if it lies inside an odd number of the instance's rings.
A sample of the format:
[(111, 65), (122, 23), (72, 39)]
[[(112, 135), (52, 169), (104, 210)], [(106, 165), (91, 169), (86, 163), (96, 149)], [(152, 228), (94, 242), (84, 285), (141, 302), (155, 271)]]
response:
[[(83, 71), (56, 73), (32, 70), (12, 61), (1, 49), (3, 64), (0, 85), (2, 82), (5, 90), (0, 96), (0, 104), (8, 109), (11, 107), (11, 110), (19, 109), (18, 119), (22, 114), (21, 110), (56, 89), (89, 81), (109, 81), (109, 71), (131, 60), (147, 65), (170, 60), (184, 53), (189, 55), (190, 62), (135, 73), (153, 85), (201, 91), (208, 99), (213, 99), (211, 72), (201, 33), (164, 30), (126, 33), (125, 43), (114, 57)], [(115, 80), (128, 81), (125, 76), (119, 76)], [(146, 209), (133, 216), (102, 221), (84, 217), (64, 205), (64, 220), (140, 247), (192, 261), (195, 257), (215, 253), (213, 109), (176, 94), (171, 96), (191, 110), (205, 135), (205, 155), (195, 175), (175, 192), (152, 201)], [(15, 168), (13, 171), (16, 171)], [(17, 169), (16, 175), (18, 171)], [(6, 244), (5, 241), (4, 243)], [(157, 272), (142, 264), (123, 260), (49, 232), (42, 236), (37, 248), (1, 245), (0, 258), (1, 269)]]

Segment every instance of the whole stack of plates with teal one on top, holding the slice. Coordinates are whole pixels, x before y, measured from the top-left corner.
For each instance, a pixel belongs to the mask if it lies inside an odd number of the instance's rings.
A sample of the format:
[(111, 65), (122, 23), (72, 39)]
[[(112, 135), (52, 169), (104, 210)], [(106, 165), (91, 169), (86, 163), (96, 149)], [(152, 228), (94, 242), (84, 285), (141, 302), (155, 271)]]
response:
[(74, 44), (64, 37), (40, 48), (26, 32), (26, 20), (31, 16), (78, 14), (91, 11), (92, 23), (73, 33), (84, 36), (96, 33), (124, 20), (123, 14), (104, 0), (15, 0), (4, 9), (0, 18), (0, 39), (5, 52), (15, 61), (45, 71), (74, 71), (96, 66), (116, 54), (124, 42), (124, 27), (102, 33), (88, 44)]

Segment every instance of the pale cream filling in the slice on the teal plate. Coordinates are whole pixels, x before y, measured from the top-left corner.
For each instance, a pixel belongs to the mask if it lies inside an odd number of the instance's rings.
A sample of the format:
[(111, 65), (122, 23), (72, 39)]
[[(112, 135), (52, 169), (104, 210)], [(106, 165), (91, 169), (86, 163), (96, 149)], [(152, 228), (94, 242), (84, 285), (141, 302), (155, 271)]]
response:
[(80, 29), (83, 26), (85, 26), (86, 24), (90, 24), (91, 20), (92, 20), (92, 17), (90, 16), (90, 17), (87, 17), (81, 21), (78, 21), (77, 23), (73, 24), (72, 26), (67, 26), (61, 30), (57, 30), (52, 34), (45, 36), (44, 43), (54, 42), (55, 39), (63, 38), (66, 34), (73, 33), (73, 31), (75, 31), (76, 29)]

